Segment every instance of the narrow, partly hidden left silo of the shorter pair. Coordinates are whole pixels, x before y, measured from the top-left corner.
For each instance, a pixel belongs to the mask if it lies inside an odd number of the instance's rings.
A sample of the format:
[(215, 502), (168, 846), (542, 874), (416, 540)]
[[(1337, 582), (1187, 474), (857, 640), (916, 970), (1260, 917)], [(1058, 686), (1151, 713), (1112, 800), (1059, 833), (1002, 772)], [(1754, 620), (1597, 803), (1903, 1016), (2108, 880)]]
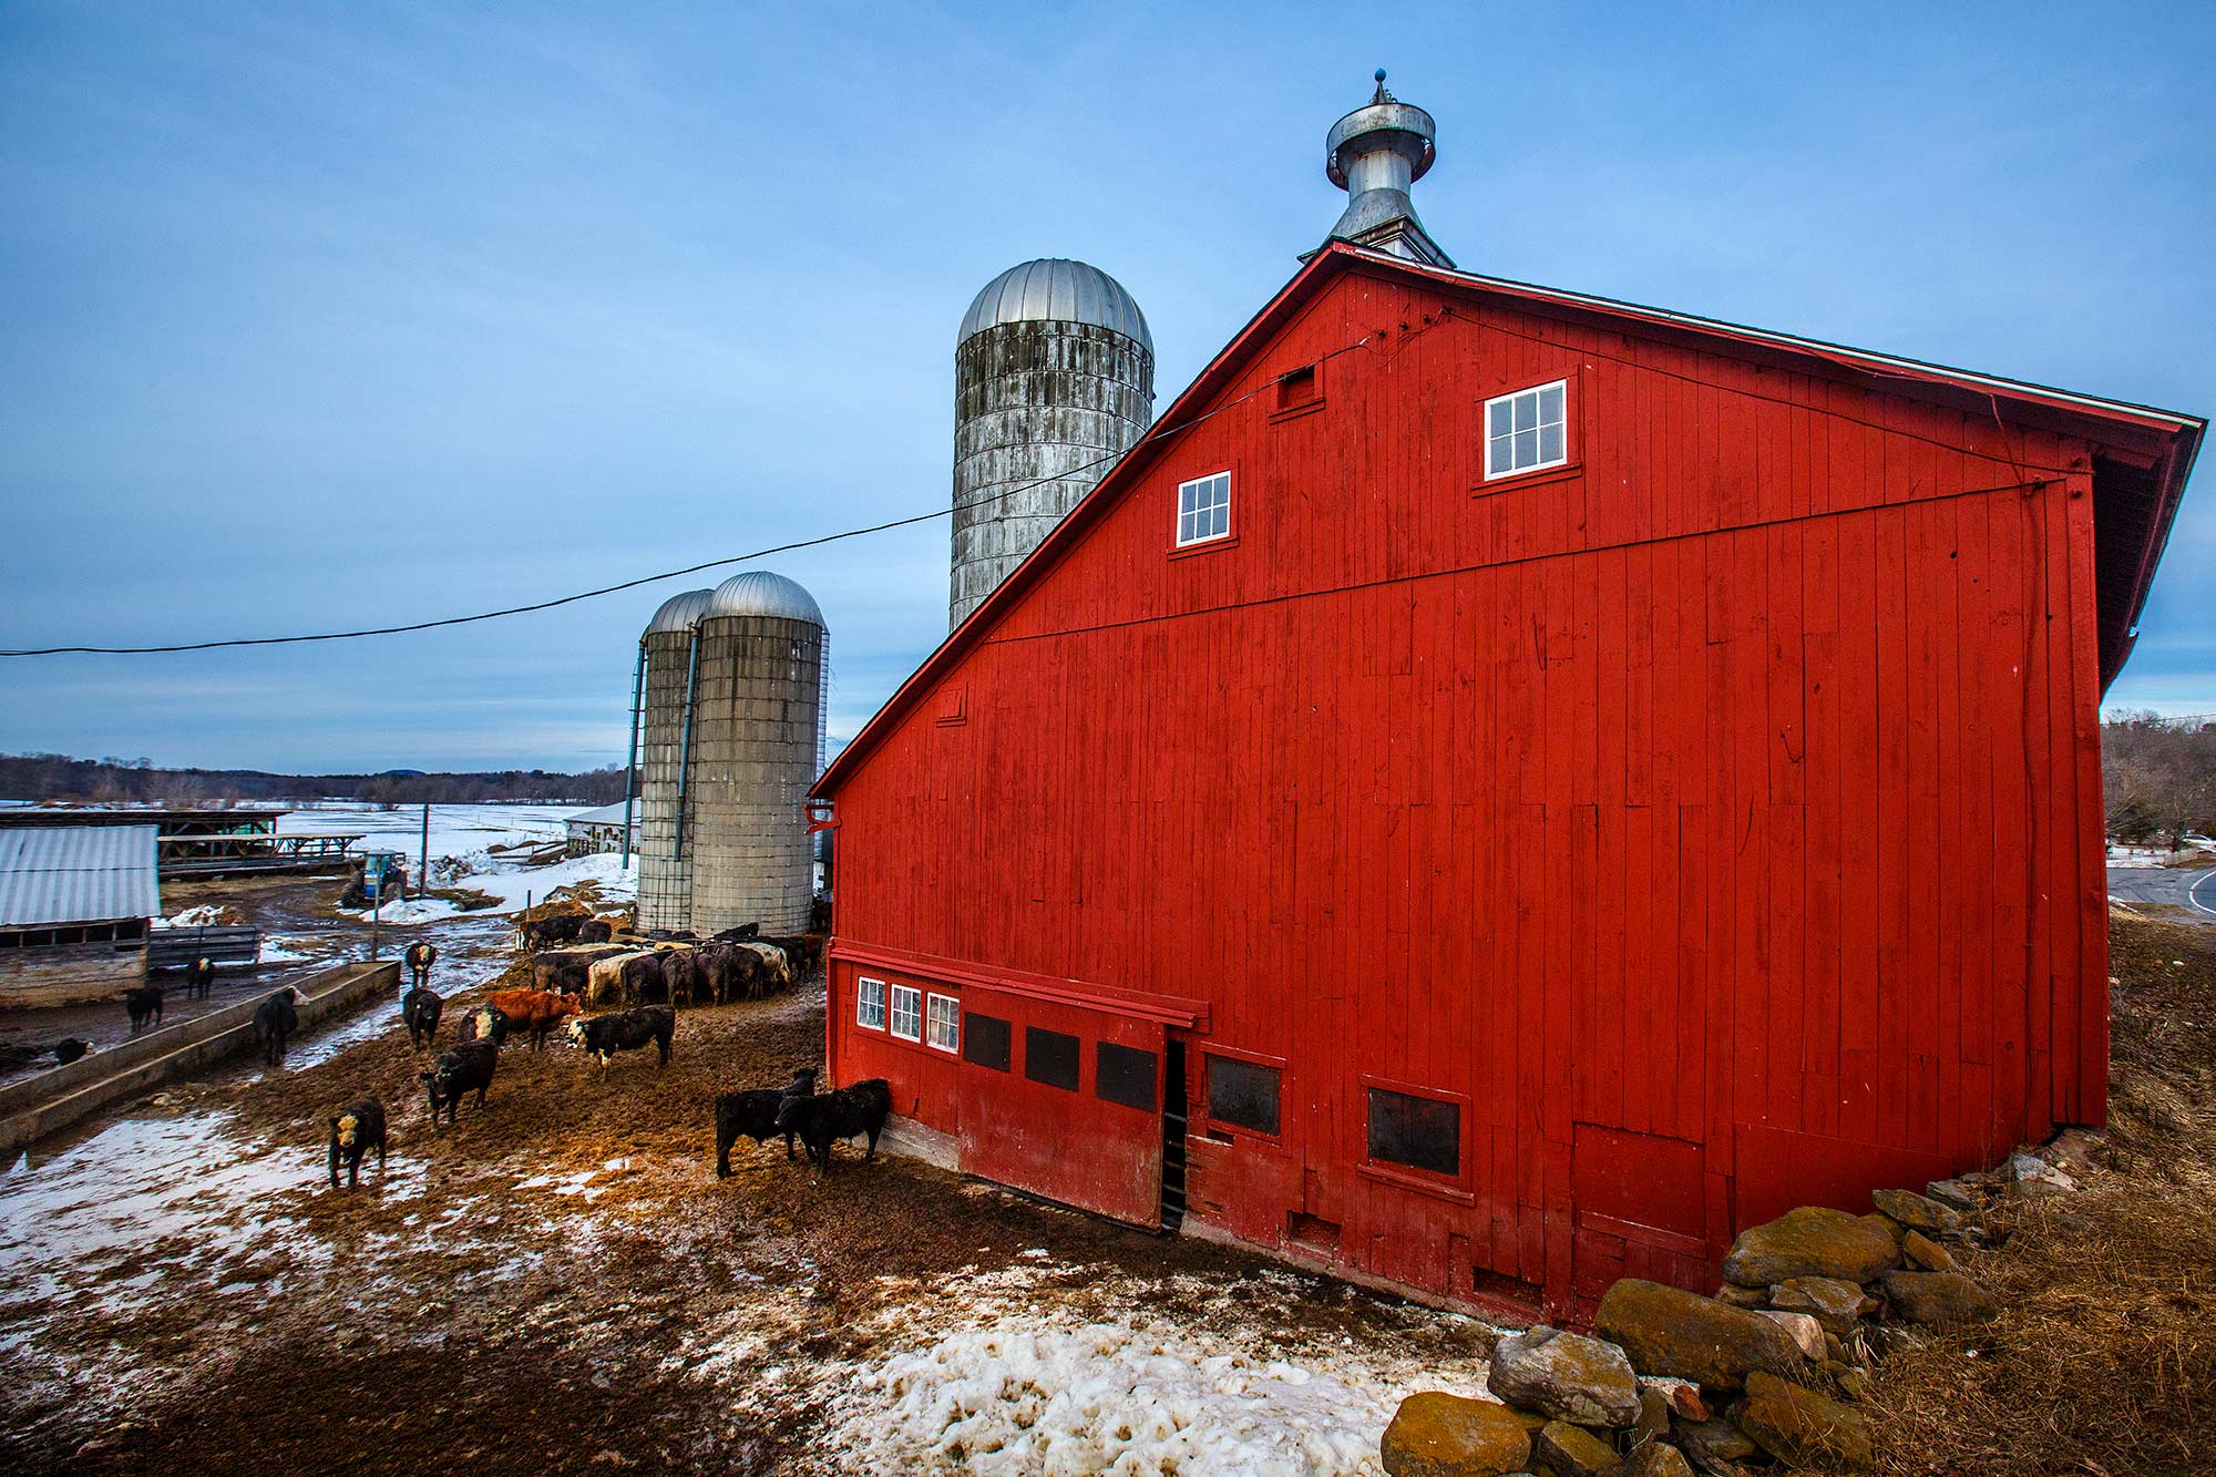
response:
[(671, 594), (638, 636), (638, 927), (685, 929), (691, 860), (685, 834), (687, 716), (696, 625), (711, 590)]

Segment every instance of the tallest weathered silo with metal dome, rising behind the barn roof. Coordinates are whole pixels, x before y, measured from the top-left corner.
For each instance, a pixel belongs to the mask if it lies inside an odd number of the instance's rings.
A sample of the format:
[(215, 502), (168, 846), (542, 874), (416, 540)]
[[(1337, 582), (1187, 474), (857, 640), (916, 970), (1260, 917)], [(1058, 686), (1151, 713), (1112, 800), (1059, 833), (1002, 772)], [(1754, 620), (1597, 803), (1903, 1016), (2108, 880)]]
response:
[[(1097, 266), (1048, 257), (977, 293), (955, 342), (960, 625), (1155, 419), (1155, 337)], [(1037, 483), (1037, 486), (1033, 486)]]

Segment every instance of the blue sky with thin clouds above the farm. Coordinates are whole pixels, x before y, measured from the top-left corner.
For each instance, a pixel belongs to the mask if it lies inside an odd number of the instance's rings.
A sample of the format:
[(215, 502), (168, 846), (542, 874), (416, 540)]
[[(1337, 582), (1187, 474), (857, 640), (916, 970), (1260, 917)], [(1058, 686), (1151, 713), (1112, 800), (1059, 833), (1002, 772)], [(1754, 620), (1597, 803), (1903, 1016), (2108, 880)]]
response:
[[(1336, 217), (1323, 131), (1378, 64), (1463, 266), (2216, 408), (2216, 7), (800, 9), (0, 9), (0, 645), (459, 614), (944, 508), (971, 295), (1099, 264), (1166, 406)], [(2112, 707), (2216, 712), (2212, 554), (2194, 488)], [(946, 526), (767, 563), (851, 734), (944, 632)], [(620, 763), (689, 583), (9, 661), (0, 750)]]

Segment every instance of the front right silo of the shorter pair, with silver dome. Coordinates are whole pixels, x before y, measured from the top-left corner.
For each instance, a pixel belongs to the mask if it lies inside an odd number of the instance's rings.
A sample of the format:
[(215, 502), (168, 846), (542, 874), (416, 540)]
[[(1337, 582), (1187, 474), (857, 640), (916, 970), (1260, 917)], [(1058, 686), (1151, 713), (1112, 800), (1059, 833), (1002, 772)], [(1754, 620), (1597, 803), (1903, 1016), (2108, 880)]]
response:
[(807, 794), (822, 772), (824, 614), (782, 574), (747, 570), (716, 585), (698, 632), (689, 927), (798, 934), (815, 900)]

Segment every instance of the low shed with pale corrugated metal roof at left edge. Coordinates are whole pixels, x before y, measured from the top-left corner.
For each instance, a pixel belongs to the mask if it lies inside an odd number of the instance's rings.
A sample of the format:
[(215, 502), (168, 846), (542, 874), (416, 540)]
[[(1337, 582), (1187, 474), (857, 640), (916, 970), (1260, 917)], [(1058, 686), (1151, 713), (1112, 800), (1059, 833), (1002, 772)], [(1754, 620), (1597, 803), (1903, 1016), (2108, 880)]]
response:
[(0, 1007), (66, 1005), (146, 978), (162, 911), (153, 825), (0, 829)]

